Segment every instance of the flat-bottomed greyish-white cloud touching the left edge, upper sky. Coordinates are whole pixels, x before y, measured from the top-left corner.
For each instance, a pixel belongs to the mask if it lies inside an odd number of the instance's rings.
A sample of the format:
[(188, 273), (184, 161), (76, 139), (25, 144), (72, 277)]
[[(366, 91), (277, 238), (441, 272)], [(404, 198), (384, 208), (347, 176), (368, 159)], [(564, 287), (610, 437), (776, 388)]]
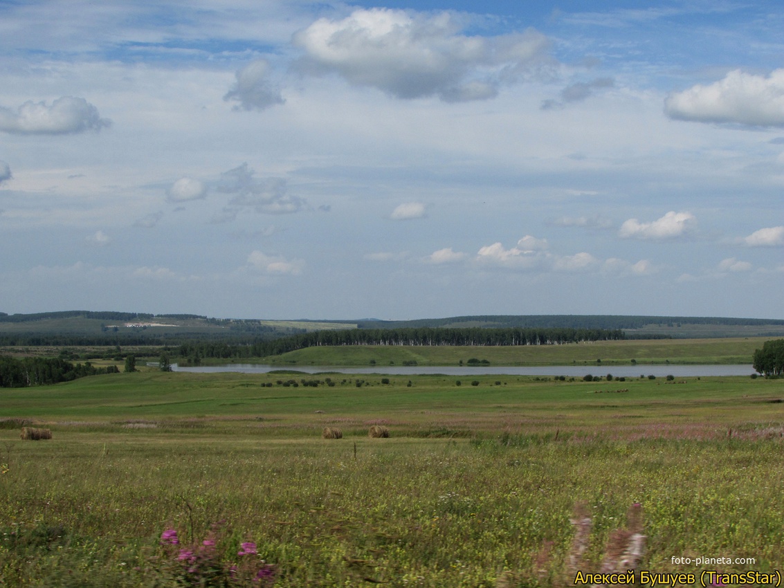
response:
[(75, 132), (100, 131), (111, 125), (100, 118), (98, 109), (84, 98), (63, 96), (51, 106), (45, 102), (27, 101), (13, 111), (0, 107), (0, 131), (22, 135), (64, 135)]

